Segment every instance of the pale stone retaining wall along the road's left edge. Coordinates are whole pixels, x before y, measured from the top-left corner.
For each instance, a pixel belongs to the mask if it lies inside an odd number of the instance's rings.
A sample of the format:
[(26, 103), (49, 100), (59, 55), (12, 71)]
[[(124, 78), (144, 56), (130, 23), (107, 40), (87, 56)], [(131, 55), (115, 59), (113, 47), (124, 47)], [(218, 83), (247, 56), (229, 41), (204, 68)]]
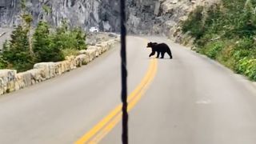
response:
[(78, 56), (67, 57), (62, 62), (36, 63), (34, 69), (22, 73), (17, 73), (17, 70), (0, 70), (0, 94), (32, 86), (86, 65), (94, 58), (110, 50), (117, 42), (119, 42), (119, 38), (110, 39), (95, 46), (88, 46), (87, 50), (81, 50)]

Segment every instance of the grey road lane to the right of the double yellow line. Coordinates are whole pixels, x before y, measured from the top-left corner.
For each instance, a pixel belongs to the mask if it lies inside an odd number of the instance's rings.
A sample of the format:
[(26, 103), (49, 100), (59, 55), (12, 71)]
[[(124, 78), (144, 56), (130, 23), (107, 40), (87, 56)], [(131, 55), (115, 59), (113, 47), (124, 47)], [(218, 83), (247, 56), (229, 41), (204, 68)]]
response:
[[(254, 144), (256, 87), (245, 78), (165, 38), (174, 59), (158, 73), (130, 112), (132, 144)], [(100, 143), (121, 143), (121, 124)]]

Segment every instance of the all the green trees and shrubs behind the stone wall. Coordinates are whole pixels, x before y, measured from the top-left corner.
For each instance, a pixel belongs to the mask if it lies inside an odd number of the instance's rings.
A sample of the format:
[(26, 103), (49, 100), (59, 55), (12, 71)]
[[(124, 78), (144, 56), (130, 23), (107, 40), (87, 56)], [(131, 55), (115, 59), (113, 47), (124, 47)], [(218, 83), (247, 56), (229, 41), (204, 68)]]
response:
[[(24, 4), (25, 1), (22, 2)], [(27, 21), (26, 25), (30, 25), (30, 14), (22, 16), (24, 21)], [(30, 70), (36, 62), (62, 61), (65, 55), (76, 55), (78, 50), (86, 49), (86, 34), (80, 28), (69, 30), (66, 22), (52, 33), (47, 22), (39, 22), (33, 41), (30, 41), (29, 37), (30, 26), (26, 25), (17, 26), (10, 41), (4, 43), (0, 54), (1, 69), (15, 69), (18, 72)]]

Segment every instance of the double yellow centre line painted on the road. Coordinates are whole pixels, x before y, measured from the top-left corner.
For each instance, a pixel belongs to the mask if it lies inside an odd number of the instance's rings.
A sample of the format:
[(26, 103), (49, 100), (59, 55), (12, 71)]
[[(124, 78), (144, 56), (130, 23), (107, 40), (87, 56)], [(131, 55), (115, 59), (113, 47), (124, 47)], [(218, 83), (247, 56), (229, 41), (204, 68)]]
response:
[[(146, 76), (142, 79), (142, 82), (137, 88), (128, 96), (128, 111), (130, 111), (142, 98), (150, 83), (153, 81), (154, 76), (157, 72), (158, 60), (156, 58), (150, 60), (150, 66), (147, 70)], [(110, 112), (101, 122), (98, 122), (89, 132), (84, 134), (82, 138), (78, 139), (76, 144), (94, 144), (98, 143), (108, 134), (114, 126), (120, 122), (122, 118), (122, 105), (118, 105), (114, 110)]]

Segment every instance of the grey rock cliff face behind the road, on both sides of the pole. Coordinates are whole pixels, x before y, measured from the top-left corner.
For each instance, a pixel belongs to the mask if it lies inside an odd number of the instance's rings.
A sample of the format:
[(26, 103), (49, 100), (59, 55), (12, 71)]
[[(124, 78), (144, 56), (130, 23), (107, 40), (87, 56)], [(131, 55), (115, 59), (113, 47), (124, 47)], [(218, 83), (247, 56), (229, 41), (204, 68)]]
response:
[[(126, 0), (127, 30), (131, 34), (174, 34), (178, 22), (186, 19), (197, 5), (218, 0)], [(21, 0), (0, 0), (0, 27), (21, 22)], [(59, 26), (63, 19), (70, 26), (88, 30), (96, 26), (102, 31), (118, 32), (119, 0), (26, 0), (34, 17), (34, 25), (45, 19)]]

